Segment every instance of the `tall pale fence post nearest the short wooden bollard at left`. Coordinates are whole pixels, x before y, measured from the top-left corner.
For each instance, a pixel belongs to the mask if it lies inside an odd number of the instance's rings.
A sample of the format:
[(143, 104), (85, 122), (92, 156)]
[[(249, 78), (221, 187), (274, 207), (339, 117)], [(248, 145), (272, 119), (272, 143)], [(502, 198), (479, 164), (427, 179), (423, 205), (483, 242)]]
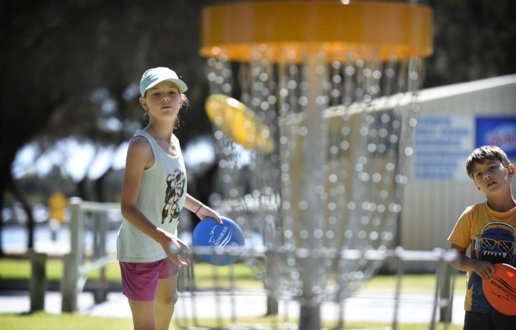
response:
[(61, 311), (73, 312), (77, 309), (77, 282), (79, 265), (84, 253), (84, 221), (78, 197), (70, 198), (70, 254), (63, 256), (63, 279), (61, 281)]

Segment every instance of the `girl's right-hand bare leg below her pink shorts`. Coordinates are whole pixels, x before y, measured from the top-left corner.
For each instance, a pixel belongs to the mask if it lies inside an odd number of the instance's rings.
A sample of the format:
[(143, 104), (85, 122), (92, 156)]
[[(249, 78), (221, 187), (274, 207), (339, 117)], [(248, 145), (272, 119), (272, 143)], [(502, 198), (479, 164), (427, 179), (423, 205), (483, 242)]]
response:
[(175, 302), (178, 301), (177, 285), (178, 274), (158, 280), (155, 303), (156, 330), (168, 330), (170, 327)]

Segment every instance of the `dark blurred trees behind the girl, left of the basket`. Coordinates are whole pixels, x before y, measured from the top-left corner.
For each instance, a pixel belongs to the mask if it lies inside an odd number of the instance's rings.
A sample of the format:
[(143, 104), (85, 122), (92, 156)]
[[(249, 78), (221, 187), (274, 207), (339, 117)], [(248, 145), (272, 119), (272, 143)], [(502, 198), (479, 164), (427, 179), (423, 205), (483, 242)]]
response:
[[(0, 5), (5, 45), (0, 191), (10, 189), (23, 202), (29, 248), (34, 220), (10, 169), (17, 150), (31, 140), (44, 148), (68, 136), (120, 144), (142, 126), (139, 77), (153, 66), (174, 68), (189, 84), (192, 108), (202, 109), (206, 88), (196, 82), (204, 81), (204, 61), (197, 56), (203, 3), (8, 0)], [(187, 111), (183, 117), (199, 114)], [(178, 131), (181, 140), (209, 127), (205, 117), (195, 123)]]

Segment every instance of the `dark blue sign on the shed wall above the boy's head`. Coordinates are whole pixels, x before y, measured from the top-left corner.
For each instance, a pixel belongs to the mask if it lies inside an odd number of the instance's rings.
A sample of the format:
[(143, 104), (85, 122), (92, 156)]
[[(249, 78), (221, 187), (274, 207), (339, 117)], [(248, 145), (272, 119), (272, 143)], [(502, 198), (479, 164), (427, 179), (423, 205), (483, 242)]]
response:
[(516, 117), (477, 117), (476, 146), (484, 145), (501, 147), (509, 158), (516, 157)]

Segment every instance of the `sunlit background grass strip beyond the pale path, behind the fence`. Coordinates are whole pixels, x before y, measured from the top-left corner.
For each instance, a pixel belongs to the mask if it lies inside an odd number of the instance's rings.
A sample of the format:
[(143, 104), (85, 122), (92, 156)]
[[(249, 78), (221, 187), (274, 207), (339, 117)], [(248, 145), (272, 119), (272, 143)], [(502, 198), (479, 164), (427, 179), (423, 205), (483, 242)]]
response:
[[(231, 267), (215, 267), (206, 263), (195, 264), (195, 284), (198, 288), (209, 288), (214, 286), (213, 276), (217, 275), (219, 281), (217, 286), (229, 287), (229, 275)], [(63, 266), (59, 258), (49, 258), (46, 262), (46, 277), (48, 280), (60, 280)], [(263, 288), (260, 280), (254, 279), (253, 271), (244, 263), (236, 263), (233, 267), (235, 287), (238, 289), (259, 289)], [(99, 270), (88, 274), (88, 279), (98, 279)], [(107, 280), (120, 283), (120, 268), (118, 263), (111, 263), (106, 266)], [(30, 262), (23, 258), (0, 258), (0, 281), (19, 279), (28, 280), (30, 277)], [(465, 275), (456, 276), (456, 292), (465, 292)], [(405, 274), (402, 277), (401, 288), (404, 292), (433, 292), (436, 286), (434, 274)], [(363, 291), (387, 291), (391, 292), (396, 287), (396, 276), (376, 275), (369, 280)]]

